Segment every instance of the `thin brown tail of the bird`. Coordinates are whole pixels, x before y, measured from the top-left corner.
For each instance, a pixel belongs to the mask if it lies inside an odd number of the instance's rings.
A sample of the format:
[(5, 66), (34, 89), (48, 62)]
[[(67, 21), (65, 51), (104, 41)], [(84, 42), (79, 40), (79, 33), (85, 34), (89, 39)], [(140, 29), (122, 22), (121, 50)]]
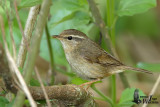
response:
[(130, 66), (121, 66), (122, 70), (132, 70), (132, 71), (139, 71), (139, 72), (144, 72), (144, 73), (148, 73), (148, 74), (153, 74), (152, 72), (145, 70), (145, 69), (141, 69), (141, 68), (133, 68)]

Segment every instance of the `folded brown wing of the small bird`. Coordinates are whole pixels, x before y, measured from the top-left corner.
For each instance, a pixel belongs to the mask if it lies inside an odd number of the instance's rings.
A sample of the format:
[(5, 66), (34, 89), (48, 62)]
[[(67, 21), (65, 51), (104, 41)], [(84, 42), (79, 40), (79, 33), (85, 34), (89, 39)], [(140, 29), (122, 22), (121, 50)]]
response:
[(102, 66), (122, 65), (120, 61), (118, 61), (113, 56), (104, 51), (98, 44), (94, 43), (91, 40), (84, 42), (90, 44), (87, 44), (87, 46), (85, 47), (84, 45), (83, 47), (81, 45), (78, 50), (80, 52), (80, 55), (86, 60), (88, 60), (90, 63), (98, 63), (101, 64)]

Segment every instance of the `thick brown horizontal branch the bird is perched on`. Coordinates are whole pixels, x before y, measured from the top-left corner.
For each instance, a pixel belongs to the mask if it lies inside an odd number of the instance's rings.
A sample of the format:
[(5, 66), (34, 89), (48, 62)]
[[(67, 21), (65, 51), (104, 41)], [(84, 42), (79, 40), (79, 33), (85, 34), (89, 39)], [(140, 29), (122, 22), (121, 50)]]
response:
[[(46, 86), (45, 90), (49, 99), (62, 101), (65, 106), (95, 107), (96, 103), (91, 94), (76, 85), (54, 85)], [(42, 88), (30, 87), (35, 100), (45, 99)]]

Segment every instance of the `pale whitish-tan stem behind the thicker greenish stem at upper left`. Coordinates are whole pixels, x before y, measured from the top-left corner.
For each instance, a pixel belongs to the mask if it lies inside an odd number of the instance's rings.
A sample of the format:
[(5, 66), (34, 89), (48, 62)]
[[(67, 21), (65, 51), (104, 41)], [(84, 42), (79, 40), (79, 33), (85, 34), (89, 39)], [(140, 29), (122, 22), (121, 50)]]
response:
[(23, 68), (23, 65), (26, 59), (27, 49), (30, 43), (30, 38), (32, 36), (32, 32), (34, 29), (34, 25), (36, 23), (39, 10), (40, 10), (39, 5), (30, 8), (28, 19), (25, 25), (24, 37), (21, 40), (21, 45), (18, 53), (18, 58), (17, 58), (18, 67)]

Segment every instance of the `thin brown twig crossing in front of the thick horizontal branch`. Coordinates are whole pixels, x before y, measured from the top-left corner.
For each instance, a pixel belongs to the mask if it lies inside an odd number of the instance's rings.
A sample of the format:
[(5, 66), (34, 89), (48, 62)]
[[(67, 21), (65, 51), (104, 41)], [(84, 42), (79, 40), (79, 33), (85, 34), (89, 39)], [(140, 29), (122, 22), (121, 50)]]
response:
[(35, 67), (35, 73), (36, 73), (36, 76), (37, 76), (37, 78), (38, 78), (38, 80), (39, 80), (39, 82), (40, 82), (42, 91), (43, 91), (43, 93), (44, 93), (44, 97), (45, 97), (46, 102), (47, 102), (47, 105), (48, 105), (48, 107), (52, 107), (52, 106), (51, 106), (51, 103), (50, 103), (50, 101), (49, 101), (48, 95), (47, 95), (47, 93), (46, 93), (46, 89), (45, 89), (45, 87), (44, 87), (44, 85), (43, 85), (43, 83), (42, 83), (41, 77), (40, 77), (40, 75), (39, 75), (38, 70), (37, 70), (36, 67)]

